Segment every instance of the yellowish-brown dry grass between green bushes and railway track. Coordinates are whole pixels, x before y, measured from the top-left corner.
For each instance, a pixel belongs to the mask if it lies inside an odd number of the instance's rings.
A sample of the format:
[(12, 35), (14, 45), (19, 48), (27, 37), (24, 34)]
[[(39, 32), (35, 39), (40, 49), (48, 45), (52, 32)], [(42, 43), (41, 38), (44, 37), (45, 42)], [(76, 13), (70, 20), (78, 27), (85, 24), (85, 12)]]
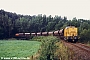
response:
[(70, 51), (70, 49), (64, 46), (61, 41), (57, 42), (56, 45), (58, 46), (58, 48), (56, 50), (55, 56), (59, 60), (73, 60), (73, 51)]

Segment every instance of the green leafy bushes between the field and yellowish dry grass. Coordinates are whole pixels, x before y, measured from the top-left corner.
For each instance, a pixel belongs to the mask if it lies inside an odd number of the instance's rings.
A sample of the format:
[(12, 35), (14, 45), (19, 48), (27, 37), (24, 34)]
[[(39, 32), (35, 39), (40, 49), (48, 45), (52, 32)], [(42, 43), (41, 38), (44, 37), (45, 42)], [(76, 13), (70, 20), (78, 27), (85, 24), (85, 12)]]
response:
[[(35, 37), (36, 40), (41, 41), (41, 50), (40, 50), (40, 60), (54, 60), (54, 53), (56, 52), (56, 42), (59, 41), (58, 38), (53, 36), (46, 37)], [(34, 38), (34, 39), (35, 39)]]

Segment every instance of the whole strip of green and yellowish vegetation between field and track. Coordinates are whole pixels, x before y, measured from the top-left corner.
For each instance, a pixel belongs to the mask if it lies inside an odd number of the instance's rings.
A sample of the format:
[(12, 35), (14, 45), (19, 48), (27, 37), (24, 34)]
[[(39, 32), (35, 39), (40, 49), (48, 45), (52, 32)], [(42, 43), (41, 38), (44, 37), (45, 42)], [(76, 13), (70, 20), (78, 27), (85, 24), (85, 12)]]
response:
[[(41, 48), (38, 51), (38, 59), (36, 60), (70, 60), (73, 58), (71, 52), (60, 39), (53, 36), (34, 37), (33, 40), (42, 42)], [(33, 56), (33, 58), (34, 56)]]

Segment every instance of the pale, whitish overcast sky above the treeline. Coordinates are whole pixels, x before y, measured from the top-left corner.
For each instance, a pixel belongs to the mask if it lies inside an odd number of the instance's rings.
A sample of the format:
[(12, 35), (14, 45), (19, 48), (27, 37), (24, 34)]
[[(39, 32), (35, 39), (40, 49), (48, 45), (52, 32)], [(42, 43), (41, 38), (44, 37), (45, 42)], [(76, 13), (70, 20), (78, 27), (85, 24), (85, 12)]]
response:
[(0, 9), (23, 15), (90, 19), (90, 0), (0, 0)]

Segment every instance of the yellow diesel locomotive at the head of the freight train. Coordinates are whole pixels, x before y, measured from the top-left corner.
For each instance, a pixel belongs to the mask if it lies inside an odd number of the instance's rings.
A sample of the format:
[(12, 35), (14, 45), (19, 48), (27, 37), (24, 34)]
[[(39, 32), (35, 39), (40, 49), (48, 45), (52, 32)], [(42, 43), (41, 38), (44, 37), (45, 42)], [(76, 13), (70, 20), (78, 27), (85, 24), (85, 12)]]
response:
[(59, 33), (60, 33), (60, 37), (68, 42), (75, 42), (76, 43), (79, 39), (78, 29), (74, 26), (68, 26), (64, 29), (61, 29), (59, 31)]

